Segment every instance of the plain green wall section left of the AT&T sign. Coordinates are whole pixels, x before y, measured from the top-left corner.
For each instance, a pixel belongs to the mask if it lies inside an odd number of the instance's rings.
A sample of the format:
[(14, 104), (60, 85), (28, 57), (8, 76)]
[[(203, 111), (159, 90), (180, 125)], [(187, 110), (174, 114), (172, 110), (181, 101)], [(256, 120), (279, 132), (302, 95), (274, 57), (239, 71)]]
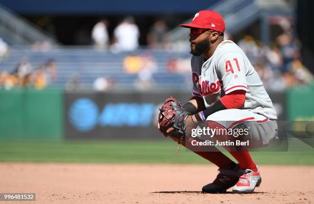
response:
[(0, 90), (0, 138), (61, 140), (63, 91)]

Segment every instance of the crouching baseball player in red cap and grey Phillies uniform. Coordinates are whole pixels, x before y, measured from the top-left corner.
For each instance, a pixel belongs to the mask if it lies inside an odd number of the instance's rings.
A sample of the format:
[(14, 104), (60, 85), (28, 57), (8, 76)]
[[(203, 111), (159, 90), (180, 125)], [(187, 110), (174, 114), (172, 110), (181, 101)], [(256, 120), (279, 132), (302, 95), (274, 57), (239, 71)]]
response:
[[(253, 126), (255, 131), (250, 134), (259, 134), (257, 137), (263, 141), (276, 137), (277, 114), (272, 102), (243, 50), (224, 40), (222, 16), (203, 10), (195, 14), (191, 23), (180, 26), (190, 29), (192, 98), (184, 106), (174, 98), (166, 100), (158, 121), (162, 134), (186, 146), (188, 141), (178, 139), (180, 135), (184, 135), (191, 121), (205, 121), (209, 127)], [(219, 166), (217, 178), (203, 187), (205, 193), (223, 193), (231, 187), (234, 193), (251, 193), (262, 181), (247, 151), (230, 151), (239, 163), (218, 149), (192, 151)]]

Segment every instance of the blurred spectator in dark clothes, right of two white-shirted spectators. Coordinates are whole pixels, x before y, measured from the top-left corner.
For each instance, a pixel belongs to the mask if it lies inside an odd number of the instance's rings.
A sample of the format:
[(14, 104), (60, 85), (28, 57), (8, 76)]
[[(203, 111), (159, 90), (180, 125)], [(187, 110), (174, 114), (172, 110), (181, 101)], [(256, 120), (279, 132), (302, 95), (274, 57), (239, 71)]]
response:
[(167, 44), (166, 34), (168, 28), (163, 20), (156, 21), (147, 34), (147, 44), (151, 48), (165, 48)]

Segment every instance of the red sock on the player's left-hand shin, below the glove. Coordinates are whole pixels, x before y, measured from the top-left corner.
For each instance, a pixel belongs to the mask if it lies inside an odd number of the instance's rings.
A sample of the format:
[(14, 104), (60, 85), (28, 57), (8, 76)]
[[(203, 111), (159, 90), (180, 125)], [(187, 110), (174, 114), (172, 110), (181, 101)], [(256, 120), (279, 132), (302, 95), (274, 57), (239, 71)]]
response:
[[(190, 143), (192, 138), (189, 138), (188, 142)], [(185, 142), (182, 143), (183, 146), (185, 146)], [(190, 146), (190, 145), (188, 145)], [(195, 154), (200, 155), (204, 159), (212, 162), (213, 164), (217, 165), (221, 169), (233, 169), (235, 166), (235, 163), (229, 159), (226, 155), (224, 155), (222, 152), (220, 152), (216, 147), (212, 146), (211, 152), (204, 152), (202, 150), (195, 151), (197, 147), (193, 146), (193, 151)]]

